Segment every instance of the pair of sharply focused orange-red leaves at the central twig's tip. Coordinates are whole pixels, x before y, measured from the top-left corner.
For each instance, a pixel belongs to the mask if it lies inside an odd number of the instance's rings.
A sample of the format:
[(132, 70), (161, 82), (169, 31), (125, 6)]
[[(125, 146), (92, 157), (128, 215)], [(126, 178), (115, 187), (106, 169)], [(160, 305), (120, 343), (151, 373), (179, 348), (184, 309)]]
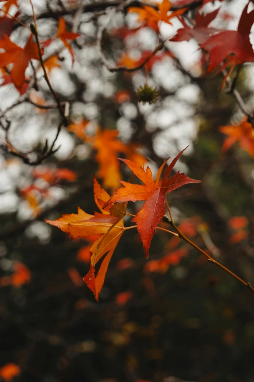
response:
[[(124, 187), (118, 188), (110, 198), (109, 194), (100, 186), (94, 177), (94, 200), (100, 213), (94, 212), (94, 215), (89, 215), (78, 208), (77, 214), (63, 215), (54, 221), (46, 221), (68, 233), (73, 239), (88, 238), (88, 240), (93, 241), (90, 248), (90, 270), (84, 277), (84, 281), (95, 295), (96, 300), (98, 300), (99, 293), (104, 284), (109, 261), (118, 241), (126, 229), (124, 227), (123, 218), (126, 215), (127, 202), (145, 200), (144, 206), (132, 221), (137, 223), (137, 229), (143, 242), (145, 256), (148, 258), (149, 247), (155, 229), (165, 214), (166, 194), (184, 184), (200, 182), (179, 172), (169, 178), (173, 167), (184, 150), (177, 155), (170, 165), (165, 167), (167, 160), (164, 161), (158, 170), (156, 181), (153, 180), (149, 167), (147, 167), (145, 171), (140, 164), (121, 159), (144, 183), (143, 185), (120, 181)], [(164, 175), (162, 180), (160, 180), (164, 167)], [(91, 239), (91, 235), (99, 235), (99, 238), (93, 237)], [(168, 266), (170, 262), (176, 263), (179, 261), (184, 254), (184, 250), (181, 250), (181, 254), (178, 254), (175, 258), (173, 254), (171, 254), (171, 256), (162, 261)], [(79, 254), (79, 256), (81, 255)], [(82, 257), (83, 256), (84, 255), (82, 255)], [(85, 257), (86, 256), (87, 252), (85, 251)], [(95, 265), (102, 258), (104, 259), (95, 275)]]

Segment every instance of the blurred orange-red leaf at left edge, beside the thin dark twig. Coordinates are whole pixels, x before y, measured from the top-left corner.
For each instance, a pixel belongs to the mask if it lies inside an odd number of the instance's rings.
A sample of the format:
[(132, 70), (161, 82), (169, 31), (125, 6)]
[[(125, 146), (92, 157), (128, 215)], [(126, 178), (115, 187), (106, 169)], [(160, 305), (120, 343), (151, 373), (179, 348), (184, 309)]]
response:
[[(24, 48), (16, 45), (8, 36), (4, 36), (4, 40), (0, 40), (0, 48), (4, 49), (4, 53), (0, 53), (0, 67), (4, 67), (13, 63), (11, 78), (18, 89), (22, 89), (25, 82), (25, 70), (31, 59), (39, 60), (39, 52), (36, 42), (33, 42), (33, 34)], [(43, 49), (41, 49), (43, 54)]]

